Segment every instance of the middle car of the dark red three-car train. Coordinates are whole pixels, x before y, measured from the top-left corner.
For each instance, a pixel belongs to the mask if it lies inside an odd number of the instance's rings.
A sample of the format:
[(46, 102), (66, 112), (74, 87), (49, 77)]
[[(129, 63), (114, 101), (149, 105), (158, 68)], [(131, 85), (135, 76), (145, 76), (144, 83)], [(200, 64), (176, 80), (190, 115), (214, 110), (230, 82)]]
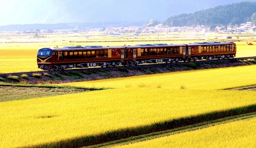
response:
[(125, 46), (125, 64), (178, 62), (186, 56), (185, 44), (136, 44)]

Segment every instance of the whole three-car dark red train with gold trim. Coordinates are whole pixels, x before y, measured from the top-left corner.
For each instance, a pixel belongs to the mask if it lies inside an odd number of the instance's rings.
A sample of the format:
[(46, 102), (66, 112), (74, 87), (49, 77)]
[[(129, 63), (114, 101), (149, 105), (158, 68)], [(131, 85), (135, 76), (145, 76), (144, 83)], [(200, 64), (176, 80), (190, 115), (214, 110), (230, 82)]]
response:
[(172, 63), (179, 61), (234, 58), (234, 42), (195, 42), (189, 44), (137, 44), (134, 46), (66, 46), (41, 48), (37, 53), (37, 65), (42, 70), (69, 68), (110, 67), (138, 65), (142, 63)]

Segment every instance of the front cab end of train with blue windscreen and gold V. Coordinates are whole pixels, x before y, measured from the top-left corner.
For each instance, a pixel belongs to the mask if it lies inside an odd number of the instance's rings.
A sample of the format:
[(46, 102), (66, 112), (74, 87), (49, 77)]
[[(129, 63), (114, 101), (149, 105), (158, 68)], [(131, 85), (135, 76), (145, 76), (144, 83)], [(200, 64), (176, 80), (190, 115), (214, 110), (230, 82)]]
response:
[(37, 52), (37, 65), (42, 70), (51, 70), (55, 62), (55, 48), (41, 48)]

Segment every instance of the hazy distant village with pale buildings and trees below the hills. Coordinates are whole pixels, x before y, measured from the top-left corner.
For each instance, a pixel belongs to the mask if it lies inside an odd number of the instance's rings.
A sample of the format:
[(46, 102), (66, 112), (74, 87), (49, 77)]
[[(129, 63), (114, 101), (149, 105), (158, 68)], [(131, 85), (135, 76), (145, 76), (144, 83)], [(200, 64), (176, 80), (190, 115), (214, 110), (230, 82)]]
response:
[[(89, 28), (89, 29), (60, 29), (60, 30), (28, 30), (28, 31), (16, 31), (12, 33), (81, 33), (81, 32), (103, 32), (107, 35), (121, 35), (132, 33), (134, 35), (139, 35), (140, 33), (173, 33), (173, 32), (196, 32), (196, 33), (208, 33), (208, 32), (218, 32), (218, 33), (240, 33), (240, 32), (249, 32), (254, 33), (256, 31), (256, 26), (253, 26), (252, 22), (246, 22), (243, 24), (235, 25), (217, 25), (215, 28), (210, 26), (164, 26), (158, 24), (156, 26), (128, 26), (128, 27), (111, 27), (105, 28)], [(6, 33), (6, 32), (4, 32)], [(10, 33), (10, 32), (9, 32)]]

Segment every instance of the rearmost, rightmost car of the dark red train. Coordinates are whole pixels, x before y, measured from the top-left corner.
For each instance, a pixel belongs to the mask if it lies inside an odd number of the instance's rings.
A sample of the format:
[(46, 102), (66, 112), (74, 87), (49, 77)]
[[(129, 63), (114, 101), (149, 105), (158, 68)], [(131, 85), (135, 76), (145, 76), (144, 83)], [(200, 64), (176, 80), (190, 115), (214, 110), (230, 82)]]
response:
[(236, 44), (234, 42), (194, 42), (187, 45), (186, 60), (211, 60), (220, 58), (234, 58)]

